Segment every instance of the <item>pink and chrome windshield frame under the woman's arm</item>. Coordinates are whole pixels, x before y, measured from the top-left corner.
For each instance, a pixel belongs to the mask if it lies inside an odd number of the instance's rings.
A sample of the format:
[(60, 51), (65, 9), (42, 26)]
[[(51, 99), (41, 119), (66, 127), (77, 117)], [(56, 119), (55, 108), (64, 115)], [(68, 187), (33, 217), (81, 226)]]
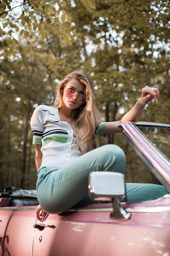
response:
[(123, 137), (147, 164), (151, 172), (170, 193), (170, 161), (167, 157), (143, 134), (138, 127), (168, 128), (169, 124), (152, 122), (122, 122), (118, 127), (123, 128)]

